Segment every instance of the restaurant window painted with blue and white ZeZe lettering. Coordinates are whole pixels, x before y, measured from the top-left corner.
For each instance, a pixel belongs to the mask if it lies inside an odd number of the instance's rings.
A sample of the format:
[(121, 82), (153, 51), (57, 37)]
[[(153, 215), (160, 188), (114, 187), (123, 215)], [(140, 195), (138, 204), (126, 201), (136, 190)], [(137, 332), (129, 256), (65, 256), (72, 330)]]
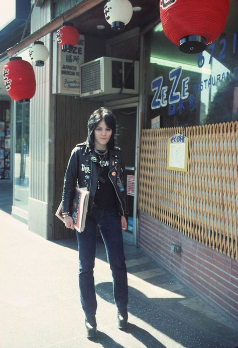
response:
[(180, 52), (161, 24), (147, 34), (147, 124), (193, 126), (238, 120), (238, 25), (230, 5), (223, 33), (200, 54)]

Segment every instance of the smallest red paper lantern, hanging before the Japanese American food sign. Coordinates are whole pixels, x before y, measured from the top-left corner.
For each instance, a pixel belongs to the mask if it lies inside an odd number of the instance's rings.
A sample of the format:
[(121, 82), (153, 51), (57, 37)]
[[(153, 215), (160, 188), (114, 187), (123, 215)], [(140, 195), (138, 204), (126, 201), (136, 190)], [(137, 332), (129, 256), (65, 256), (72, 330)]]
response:
[(57, 30), (56, 38), (63, 52), (71, 52), (73, 46), (78, 44), (79, 33), (73, 23), (67, 22)]

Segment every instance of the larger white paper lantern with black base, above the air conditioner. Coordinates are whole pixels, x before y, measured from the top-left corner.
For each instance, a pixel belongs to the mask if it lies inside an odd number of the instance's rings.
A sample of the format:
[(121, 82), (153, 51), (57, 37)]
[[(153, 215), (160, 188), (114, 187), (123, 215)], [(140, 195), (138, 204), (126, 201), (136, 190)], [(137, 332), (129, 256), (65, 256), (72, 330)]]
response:
[(133, 8), (129, 0), (107, 0), (104, 16), (112, 30), (124, 30), (132, 18)]

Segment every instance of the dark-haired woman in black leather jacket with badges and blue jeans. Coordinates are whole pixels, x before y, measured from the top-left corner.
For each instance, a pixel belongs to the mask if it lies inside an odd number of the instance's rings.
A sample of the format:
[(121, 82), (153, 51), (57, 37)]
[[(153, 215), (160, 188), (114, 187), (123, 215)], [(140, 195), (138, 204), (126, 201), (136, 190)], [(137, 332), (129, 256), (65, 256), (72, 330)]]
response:
[(122, 230), (127, 229), (125, 167), (121, 149), (114, 146), (115, 135), (112, 112), (104, 107), (95, 110), (88, 120), (87, 140), (73, 149), (64, 178), (62, 215), (67, 228), (74, 229), (70, 214), (76, 183), (90, 192), (85, 229), (82, 233), (76, 231), (80, 300), (88, 338), (95, 337), (97, 332), (93, 277), (97, 225), (112, 272), (118, 328), (128, 327), (128, 281), (122, 236)]

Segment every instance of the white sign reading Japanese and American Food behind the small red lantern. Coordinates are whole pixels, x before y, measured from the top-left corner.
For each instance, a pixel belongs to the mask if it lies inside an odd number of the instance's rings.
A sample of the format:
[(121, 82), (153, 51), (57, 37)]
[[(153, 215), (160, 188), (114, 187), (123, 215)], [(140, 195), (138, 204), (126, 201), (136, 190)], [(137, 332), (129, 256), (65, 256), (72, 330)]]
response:
[(80, 90), (80, 65), (84, 63), (84, 35), (72, 52), (63, 52), (54, 35), (53, 94), (78, 95)]

